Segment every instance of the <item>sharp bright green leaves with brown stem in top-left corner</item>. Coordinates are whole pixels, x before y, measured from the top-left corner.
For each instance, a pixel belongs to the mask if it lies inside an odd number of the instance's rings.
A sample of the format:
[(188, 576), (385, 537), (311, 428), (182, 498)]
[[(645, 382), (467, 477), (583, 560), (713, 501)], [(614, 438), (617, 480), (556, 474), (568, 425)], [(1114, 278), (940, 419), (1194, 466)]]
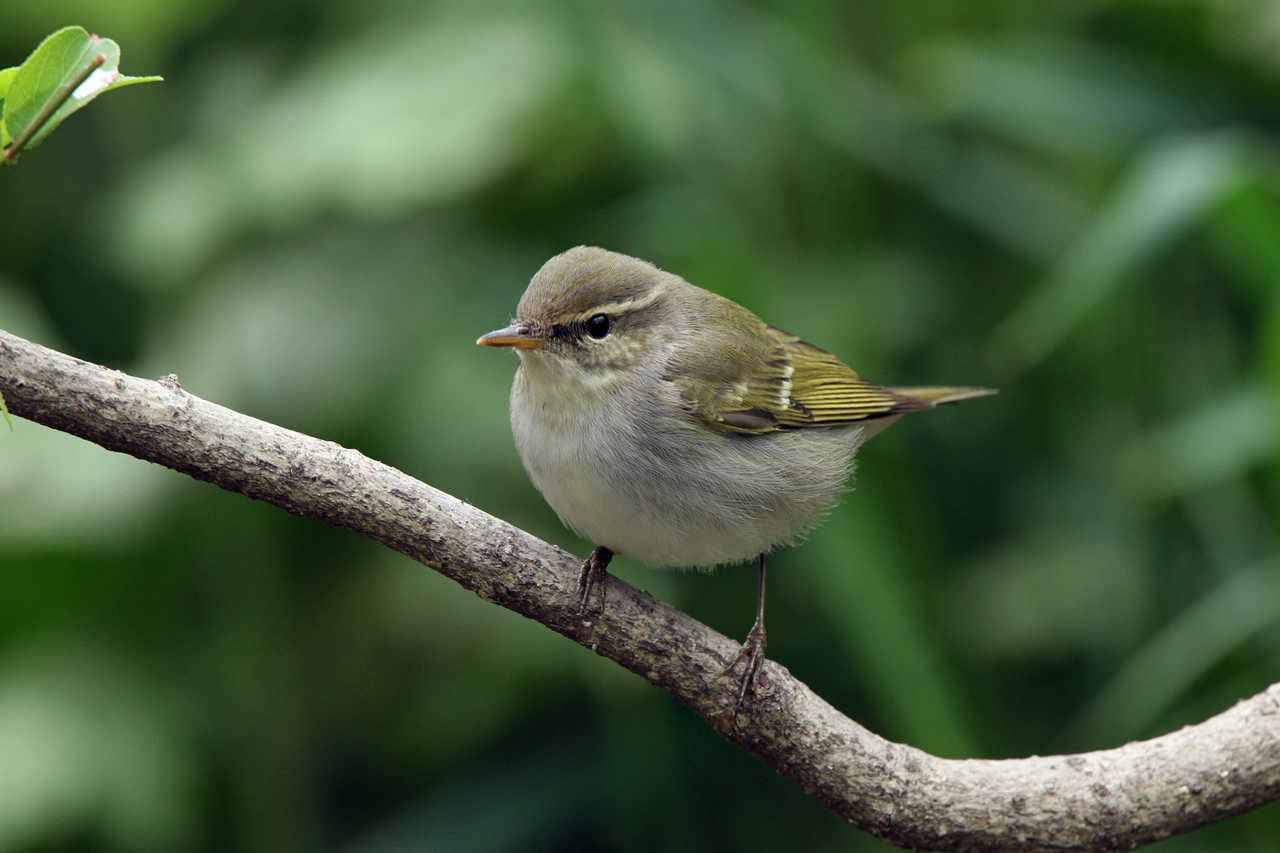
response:
[[(101, 64), (93, 68), (99, 56)], [(110, 38), (91, 35), (83, 27), (64, 27), (52, 33), (9, 78), (0, 114), (5, 137), (13, 145), (35, 147), (102, 92), (161, 79), (125, 77), (119, 65), (120, 46)], [(12, 161), (13, 158), (8, 160)]]

